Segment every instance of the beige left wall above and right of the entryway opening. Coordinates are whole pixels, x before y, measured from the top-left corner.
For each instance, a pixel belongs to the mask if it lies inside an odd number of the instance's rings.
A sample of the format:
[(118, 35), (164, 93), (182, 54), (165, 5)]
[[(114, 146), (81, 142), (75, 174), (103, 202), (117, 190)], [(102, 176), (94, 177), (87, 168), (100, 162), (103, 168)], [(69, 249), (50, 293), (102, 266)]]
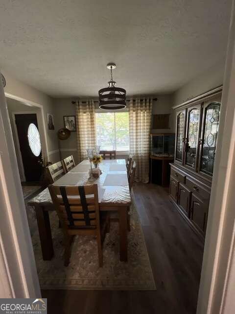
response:
[[(19, 81), (14, 78), (12, 74), (4, 69), (1, 69), (2, 74), (6, 79), (6, 87), (4, 88), (5, 95), (9, 98), (11, 96), (27, 100), (28, 102), (36, 103), (43, 106), (44, 121), (47, 124), (47, 113), (54, 114), (54, 106), (52, 99), (46, 94), (37, 89)], [(10, 96), (9, 96), (10, 95)], [(49, 158), (54, 161), (59, 160), (58, 155), (58, 140), (57, 140), (57, 126), (55, 130), (48, 130), (46, 125), (47, 146), (49, 151)]]

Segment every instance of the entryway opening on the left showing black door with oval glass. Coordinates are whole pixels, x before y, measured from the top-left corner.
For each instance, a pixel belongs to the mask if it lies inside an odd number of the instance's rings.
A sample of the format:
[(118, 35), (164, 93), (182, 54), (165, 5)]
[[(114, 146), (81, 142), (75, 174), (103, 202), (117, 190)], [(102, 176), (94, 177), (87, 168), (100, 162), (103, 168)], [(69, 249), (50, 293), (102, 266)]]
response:
[(40, 185), (42, 164), (39, 161), (48, 158), (43, 107), (7, 96), (7, 111), (21, 182)]

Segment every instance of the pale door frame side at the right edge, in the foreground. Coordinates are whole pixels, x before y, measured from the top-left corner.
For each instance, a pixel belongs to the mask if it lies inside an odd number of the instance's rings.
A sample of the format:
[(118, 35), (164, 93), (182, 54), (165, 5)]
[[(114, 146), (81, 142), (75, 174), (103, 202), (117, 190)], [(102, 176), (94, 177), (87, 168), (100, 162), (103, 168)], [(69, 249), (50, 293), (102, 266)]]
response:
[(220, 124), (197, 314), (234, 314), (235, 0), (232, 2)]

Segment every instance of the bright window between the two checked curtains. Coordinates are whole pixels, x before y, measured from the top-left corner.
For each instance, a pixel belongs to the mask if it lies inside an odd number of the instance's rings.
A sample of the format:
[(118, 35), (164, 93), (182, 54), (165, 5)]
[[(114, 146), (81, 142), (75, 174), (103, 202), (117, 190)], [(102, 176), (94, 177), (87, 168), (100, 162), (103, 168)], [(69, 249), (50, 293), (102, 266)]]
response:
[(129, 151), (129, 112), (97, 112), (95, 124), (100, 150)]

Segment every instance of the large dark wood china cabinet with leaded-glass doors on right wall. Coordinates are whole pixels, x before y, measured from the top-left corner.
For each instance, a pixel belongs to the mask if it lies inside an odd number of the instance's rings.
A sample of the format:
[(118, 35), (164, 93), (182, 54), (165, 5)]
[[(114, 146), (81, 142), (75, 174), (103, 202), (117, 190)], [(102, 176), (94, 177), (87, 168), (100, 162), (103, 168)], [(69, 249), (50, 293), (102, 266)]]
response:
[(222, 86), (174, 106), (175, 158), (170, 198), (189, 225), (205, 237), (219, 128)]

